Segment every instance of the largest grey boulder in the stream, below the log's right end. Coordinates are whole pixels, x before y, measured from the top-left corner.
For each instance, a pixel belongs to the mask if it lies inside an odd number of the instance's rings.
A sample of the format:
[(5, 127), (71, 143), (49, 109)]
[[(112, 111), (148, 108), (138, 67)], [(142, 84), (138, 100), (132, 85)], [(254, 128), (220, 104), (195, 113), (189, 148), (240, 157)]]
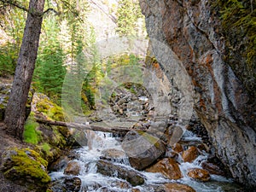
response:
[(129, 156), (131, 166), (137, 170), (152, 165), (166, 152), (166, 146), (160, 138), (139, 131), (129, 131), (124, 138), (122, 148)]

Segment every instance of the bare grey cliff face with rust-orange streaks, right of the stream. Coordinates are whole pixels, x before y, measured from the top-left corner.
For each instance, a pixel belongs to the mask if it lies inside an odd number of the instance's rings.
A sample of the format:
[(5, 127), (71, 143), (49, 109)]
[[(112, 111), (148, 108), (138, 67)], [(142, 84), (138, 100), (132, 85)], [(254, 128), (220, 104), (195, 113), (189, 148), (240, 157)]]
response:
[[(171, 80), (172, 63), (181, 63), (194, 87), (194, 109), (218, 157), (238, 182), (255, 186), (255, 101), (227, 62), (228, 37), (220, 30), (216, 7), (207, 0), (140, 0), (140, 4), (153, 53), (166, 76)], [(166, 44), (168, 55), (175, 59), (161, 59), (160, 44)], [(240, 59), (242, 65), (245, 58)]]

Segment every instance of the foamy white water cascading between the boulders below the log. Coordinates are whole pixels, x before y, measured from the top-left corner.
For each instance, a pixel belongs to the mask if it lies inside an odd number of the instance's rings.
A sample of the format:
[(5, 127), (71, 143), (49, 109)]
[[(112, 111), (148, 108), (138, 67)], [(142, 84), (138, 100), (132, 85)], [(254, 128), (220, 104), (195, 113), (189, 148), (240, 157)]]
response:
[[(189, 133), (190, 134), (190, 133)], [(95, 137), (95, 136), (94, 136)], [(189, 135), (185, 135), (189, 137)], [(191, 137), (195, 137), (191, 135)], [(121, 189), (118, 182), (125, 182), (125, 180), (118, 177), (107, 177), (103, 176), (100, 173), (96, 172), (96, 161), (100, 160), (102, 156), (102, 151), (108, 148), (115, 148), (122, 151), (121, 145), (118, 140), (112, 137), (112, 134), (96, 132), (96, 139), (91, 144), (90, 148), (85, 146), (84, 148), (79, 148), (75, 150), (75, 153), (79, 154), (79, 158), (75, 161), (79, 162), (81, 170), (79, 172), (79, 177), (82, 181), (81, 189), (79, 192), (99, 192), (104, 188), (108, 188), (110, 191), (131, 191), (130, 189)], [(159, 185), (164, 183), (184, 183), (188, 184), (194, 188), (197, 192), (224, 192), (222, 184), (231, 185), (232, 180), (225, 177), (211, 175), (211, 181), (207, 183), (196, 182), (192, 178), (187, 176), (187, 172), (190, 168), (201, 168), (201, 162), (207, 160), (207, 153), (201, 154), (193, 163), (183, 162), (179, 158), (179, 167), (183, 174), (183, 178), (178, 180), (170, 180), (161, 175), (160, 173), (151, 173), (151, 172), (141, 172), (145, 178), (145, 183), (142, 186), (137, 186), (137, 189), (140, 189), (142, 192), (154, 192), (152, 185)], [(115, 163), (119, 166), (125, 166), (130, 169), (133, 169), (130, 164), (128, 157), (122, 157), (122, 160), (119, 160)], [(59, 172), (51, 172), (50, 177), (53, 181), (61, 179), (63, 177), (68, 177), (64, 174), (64, 170)], [(236, 191), (236, 190), (234, 190)]]

